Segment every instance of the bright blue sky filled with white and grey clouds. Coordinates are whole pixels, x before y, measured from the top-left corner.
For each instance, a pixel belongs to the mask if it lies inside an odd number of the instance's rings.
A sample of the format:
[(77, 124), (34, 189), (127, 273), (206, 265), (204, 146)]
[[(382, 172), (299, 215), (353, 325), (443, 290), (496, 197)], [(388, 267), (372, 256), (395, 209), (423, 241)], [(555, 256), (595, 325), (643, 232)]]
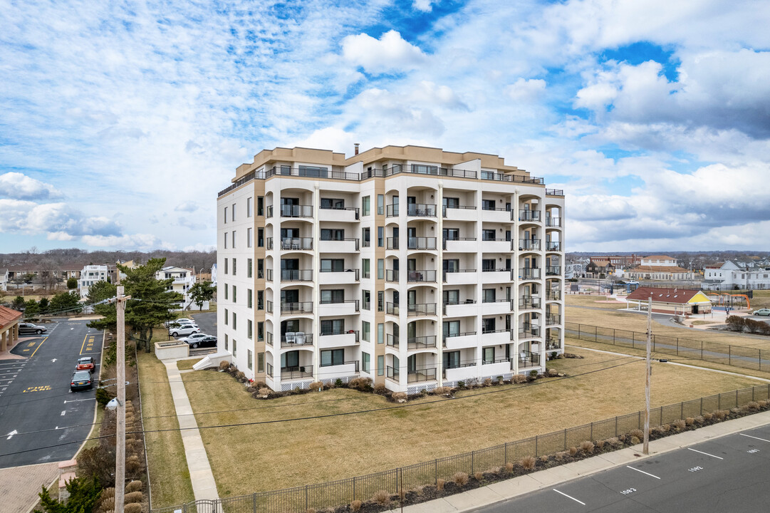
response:
[(0, 252), (206, 249), (261, 149), (421, 144), (567, 250), (770, 251), (770, 4), (0, 0)]

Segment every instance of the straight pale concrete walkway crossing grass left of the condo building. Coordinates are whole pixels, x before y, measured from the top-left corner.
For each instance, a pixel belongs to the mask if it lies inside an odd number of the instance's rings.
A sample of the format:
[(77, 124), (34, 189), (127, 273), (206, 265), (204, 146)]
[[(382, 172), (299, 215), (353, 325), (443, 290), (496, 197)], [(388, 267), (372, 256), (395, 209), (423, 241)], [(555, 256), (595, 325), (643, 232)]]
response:
[[(166, 374), (169, 376), (171, 395), (176, 408), (176, 417), (179, 419), (179, 428), (182, 429), (182, 444), (185, 447), (187, 469), (192, 483), (192, 494), (196, 501), (200, 499), (217, 499), (216, 481), (209, 464), (209, 456), (200, 438), (200, 431), (195, 416), (192, 415), (192, 406), (185, 385), (182, 383), (182, 374), (176, 367), (176, 360), (162, 360), (166, 366)], [(192, 428), (192, 429), (188, 429)]]

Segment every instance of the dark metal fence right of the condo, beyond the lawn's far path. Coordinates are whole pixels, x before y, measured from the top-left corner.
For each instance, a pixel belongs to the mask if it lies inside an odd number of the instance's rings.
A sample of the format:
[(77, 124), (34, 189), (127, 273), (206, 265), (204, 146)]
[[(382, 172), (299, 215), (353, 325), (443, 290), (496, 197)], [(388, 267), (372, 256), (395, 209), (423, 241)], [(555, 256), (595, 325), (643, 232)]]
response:
[[(634, 349), (644, 349), (647, 345), (646, 333), (588, 324), (564, 323), (564, 336)], [(669, 337), (668, 335), (652, 334), (651, 339), (652, 350), (655, 353), (743, 367), (753, 371), (770, 371), (770, 350), (691, 338)]]

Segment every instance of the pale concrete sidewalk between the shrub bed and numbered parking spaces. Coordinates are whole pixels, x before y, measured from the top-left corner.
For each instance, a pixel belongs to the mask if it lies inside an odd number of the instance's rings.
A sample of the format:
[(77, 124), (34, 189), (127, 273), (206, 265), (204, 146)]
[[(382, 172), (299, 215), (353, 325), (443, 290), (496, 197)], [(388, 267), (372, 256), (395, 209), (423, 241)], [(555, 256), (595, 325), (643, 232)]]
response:
[(422, 504), (407, 506), (403, 511), (408, 513), (457, 513), (458, 511), (474, 511), (478, 508), (494, 505), (499, 502), (510, 501), (521, 495), (531, 493), (532, 491), (550, 488), (559, 483), (572, 481), (577, 478), (596, 474), (597, 472), (609, 470), (611, 468), (627, 465), (634, 461), (641, 461), (645, 458), (654, 458), (658, 454), (663, 454), (675, 449), (688, 447), (689, 445), (699, 444), (713, 438), (719, 438), (727, 434), (745, 431), (747, 429), (758, 428), (765, 424), (770, 424), (770, 411), (747, 415), (735, 419), (734, 421), (721, 422), (713, 424), (706, 428), (696, 429), (695, 431), (685, 431), (684, 433), (674, 434), (670, 437), (661, 438), (650, 442), (650, 454), (644, 456), (641, 454), (641, 444), (634, 445), (631, 448), (624, 448), (620, 451), (598, 454), (593, 458), (587, 458), (574, 463), (568, 463), (559, 467), (548, 468), (544, 471), (533, 472), (520, 476), (518, 478), (500, 481), (493, 485), (487, 485), (474, 490), (466, 491), (461, 494), (450, 495), (449, 497), (435, 499), (434, 501), (423, 502)]

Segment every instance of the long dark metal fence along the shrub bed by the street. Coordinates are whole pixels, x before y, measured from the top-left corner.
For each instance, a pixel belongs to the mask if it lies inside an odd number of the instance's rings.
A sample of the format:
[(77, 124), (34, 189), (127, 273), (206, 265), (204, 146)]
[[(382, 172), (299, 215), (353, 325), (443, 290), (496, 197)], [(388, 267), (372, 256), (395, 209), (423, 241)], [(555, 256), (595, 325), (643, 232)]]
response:
[[(751, 401), (768, 399), (770, 384), (668, 404), (651, 411), (650, 425), (670, 424), (705, 412), (741, 407)], [(502, 467), (508, 462), (516, 463), (527, 456), (539, 457), (568, 451), (572, 447), (579, 447), (582, 441), (617, 437), (632, 429), (641, 429), (643, 425), (644, 412), (637, 411), (479, 451), (423, 461), (408, 467), (216, 501), (192, 501), (185, 505), (153, 509), (152, 513), (172, 513), (177, 510), (182, 513), (304, 513), (310, 508), (319, 510), (350, 504), (354, 500), (367, 501), (380, 490), (397, 494), (418, 486), (436, 485), (439, 479), (450, 481), (455, 472), (474, 474)]]

